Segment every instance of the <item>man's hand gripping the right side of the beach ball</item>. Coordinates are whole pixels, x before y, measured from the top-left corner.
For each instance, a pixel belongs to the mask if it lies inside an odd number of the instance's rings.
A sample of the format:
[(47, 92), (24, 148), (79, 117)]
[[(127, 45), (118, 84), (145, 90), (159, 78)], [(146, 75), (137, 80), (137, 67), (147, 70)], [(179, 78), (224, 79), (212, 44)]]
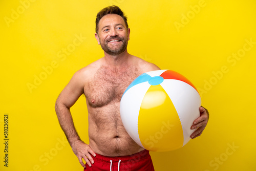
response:
[(202, 134), (202, 132), (205, 129), (205, 126), (207, 125), (207, 122), (209, 120), (209, 113), (207, 109), (203, 108), (201, 106), (199, 108), (200, 110), (200, 117), (197, 118), (194, 122), (193, 125), (191, 126), (191, 130), (196, 130), (193, 134), (190, 135), (191, 139), (194, 139)]

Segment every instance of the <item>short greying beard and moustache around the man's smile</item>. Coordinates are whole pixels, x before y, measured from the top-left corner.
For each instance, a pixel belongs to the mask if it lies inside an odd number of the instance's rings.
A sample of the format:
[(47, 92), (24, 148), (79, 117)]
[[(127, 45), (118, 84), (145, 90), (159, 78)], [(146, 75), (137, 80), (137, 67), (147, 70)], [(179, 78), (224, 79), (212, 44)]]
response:
[[(121, 46), (110, 47), (108, 44), (109, 44), (109, 41), (112, 39), (119, 39), (120, 41), (122, 41)], [(127, 45), (128, 45), (127, 39), (124, 39), (124, 38), (118, 37), (118, 36), (112, 36), (105, 42), (100, 43), (100, 46), (103, 49), (103, 51), (105, 51), (106, 53), (108, 53), (109, 55), (112, 55), (112, 56), (117, 56), (117, 55), (123, 53), (125, 51), (125, 49), (127, 48)]]

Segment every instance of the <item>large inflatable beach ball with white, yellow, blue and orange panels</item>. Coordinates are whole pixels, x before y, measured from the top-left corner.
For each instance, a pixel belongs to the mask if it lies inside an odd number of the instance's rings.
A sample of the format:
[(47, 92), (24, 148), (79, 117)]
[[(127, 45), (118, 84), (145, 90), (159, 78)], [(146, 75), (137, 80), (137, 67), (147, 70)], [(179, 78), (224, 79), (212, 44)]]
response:
[(157, 70), (141, 74), (125, 90), (120, 115), (127, 133), (149, 151), (166, 152), (184, 146), (200, 116), (200, 95), (181, 74)]

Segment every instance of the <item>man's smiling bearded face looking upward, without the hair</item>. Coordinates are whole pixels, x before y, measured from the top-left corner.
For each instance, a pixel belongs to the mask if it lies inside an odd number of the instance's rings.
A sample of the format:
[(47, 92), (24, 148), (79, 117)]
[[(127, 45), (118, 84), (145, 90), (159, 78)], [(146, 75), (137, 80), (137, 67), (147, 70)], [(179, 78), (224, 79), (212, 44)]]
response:
[(95, 37), (101, 48), (110, 55), (119, 55), (127, 48), (130, 29), (126, 28), (123, 18), (117, 14), (104, 15), (99, 20), (99, 31)]

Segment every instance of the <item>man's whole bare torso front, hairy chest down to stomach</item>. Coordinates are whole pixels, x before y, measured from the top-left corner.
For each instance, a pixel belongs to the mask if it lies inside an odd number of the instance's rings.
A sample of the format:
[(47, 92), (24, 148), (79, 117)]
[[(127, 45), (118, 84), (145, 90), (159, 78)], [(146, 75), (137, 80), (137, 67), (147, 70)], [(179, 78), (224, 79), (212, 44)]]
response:
[[(138, 70), (101, 68), (84, 87), (88, 104), (89, 139), (92, 149), (102, 155), (120, 156), (140, 149), (125, 131), (119, 104), (125, 89), (139, 76)], [(133, 153), (132, 153), (133, 154)]]

